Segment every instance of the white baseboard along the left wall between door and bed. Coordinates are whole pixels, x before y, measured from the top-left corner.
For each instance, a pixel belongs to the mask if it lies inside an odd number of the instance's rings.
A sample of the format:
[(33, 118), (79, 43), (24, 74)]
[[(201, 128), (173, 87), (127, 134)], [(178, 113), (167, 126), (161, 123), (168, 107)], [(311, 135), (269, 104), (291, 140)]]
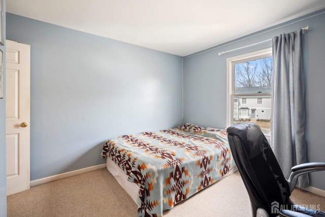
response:
[(61, 174), (52, 175), (52, 176), (45, 177), (45, 178), (32, 180), (32, 181), (30, 181), (30, 187), (33, 187), (33, 186), (36, 186), (39, 184), (45, 184), (47, 182), (59, 180), (62, 178), (68, 178), (70, 176), (79, 175), (79, 174), (86, 173), (86, 172), (91, 172), (94, 170), (103, 169), (103, 168), (106, 168), (106, 164), (95, 165), (92, 167), (87, 167), (87, 168), (83, 168), (83, 169), (79, 169), (79, 170), (74, 170), (74, 171), (70, 171), (70, 172), (66, 172), (66, 173), (61, 173)]

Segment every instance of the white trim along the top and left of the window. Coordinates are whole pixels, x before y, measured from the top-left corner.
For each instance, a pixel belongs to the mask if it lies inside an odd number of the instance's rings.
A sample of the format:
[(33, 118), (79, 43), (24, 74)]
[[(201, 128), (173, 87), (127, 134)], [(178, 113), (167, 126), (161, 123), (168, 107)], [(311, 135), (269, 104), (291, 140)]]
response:
[(251, 53), (245, 53), (239, 56), (233, 56), (230, 58), (226, 59), (226, 63), (227, 63), (227, 97), (226, 97), (226, 126), (227, 128), (230, 127), (232, 125), (232, 119), (233, 119), (233, 94), (234, 94), (234, 89), (235, 89), (235, 84), (233, 82), (234, 80), (234, 66), (236, 63), (243, 61), (243, 59), (246, 60), (253, 60), (256, 59), (257, 56), (270, 56), (270, 54), (272, 55), (272, 48), (267, 48), (267, 49), (263, 49), (263, 50), (258, 50), (255, 52), (251, 52)]

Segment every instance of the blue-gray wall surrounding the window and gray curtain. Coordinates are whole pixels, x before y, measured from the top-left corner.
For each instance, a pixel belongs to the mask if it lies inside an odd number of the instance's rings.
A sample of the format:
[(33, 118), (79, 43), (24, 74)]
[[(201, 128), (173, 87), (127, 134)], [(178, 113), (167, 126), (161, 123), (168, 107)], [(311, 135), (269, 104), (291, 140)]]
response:
[[(319, 11), (315, 15), (325, 11)], [(302, 17), (306, 18), (311, 15)], [(272, 41), (219, 56), (218, 53), (272, 39), (282, 33), (293, 32), (309, 25), (304, 35), (306, 59), (307, 144), (308, 161), (325, 161), (324, 123), (325, 98), (325, 13), (311, 18), (296, 19), (243, 37), (238, 42), (228, 42), (183, 59), (184, 120), (205, 127), (226, 127), (226, 58), (272, 47)], [(270, 30), (270, 31), (269, 31)], [(269, 31), (269, 32), (266, 32)], [(264, 33), (266, 32), (266, 33)], [(256, 36), (254, 36), (256, 35)], [(237, 41), (237, 40), (235, 40)], [(311, 174), (311, 186), (325, 190), (325, 172)]]

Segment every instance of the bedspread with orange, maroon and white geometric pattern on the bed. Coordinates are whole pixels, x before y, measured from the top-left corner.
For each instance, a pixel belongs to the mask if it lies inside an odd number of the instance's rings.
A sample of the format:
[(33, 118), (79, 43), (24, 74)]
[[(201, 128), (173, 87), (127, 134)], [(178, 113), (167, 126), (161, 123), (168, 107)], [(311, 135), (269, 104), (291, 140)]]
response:
[(101, 156), (138, 184), (138, 216), (162, 216), (163, 210), (207, 188), (235, 166), (226, 130), (189, 123), (112, 138)]

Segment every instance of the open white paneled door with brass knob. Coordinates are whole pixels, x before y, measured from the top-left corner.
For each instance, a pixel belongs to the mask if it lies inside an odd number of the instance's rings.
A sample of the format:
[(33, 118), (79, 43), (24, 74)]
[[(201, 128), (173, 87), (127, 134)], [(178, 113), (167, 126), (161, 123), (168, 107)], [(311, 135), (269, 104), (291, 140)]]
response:
[(7, 195), (29, 189), (30, 46), (6, 40)]

